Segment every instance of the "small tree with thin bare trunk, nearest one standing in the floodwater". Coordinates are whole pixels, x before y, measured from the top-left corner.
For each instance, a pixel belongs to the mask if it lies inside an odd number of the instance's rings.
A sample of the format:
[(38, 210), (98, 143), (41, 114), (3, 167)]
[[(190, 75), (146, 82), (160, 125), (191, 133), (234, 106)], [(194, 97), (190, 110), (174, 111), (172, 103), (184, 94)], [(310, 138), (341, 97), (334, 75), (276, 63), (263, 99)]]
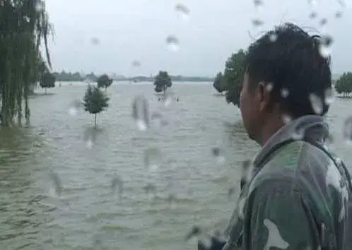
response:
[(104, 111), (109, 105), (109, 97), (95, 86), (88, 85), (86, 93), (83, 97), (84, 111), (94, 114), (94, 125), (97, 125), (97, 114)]

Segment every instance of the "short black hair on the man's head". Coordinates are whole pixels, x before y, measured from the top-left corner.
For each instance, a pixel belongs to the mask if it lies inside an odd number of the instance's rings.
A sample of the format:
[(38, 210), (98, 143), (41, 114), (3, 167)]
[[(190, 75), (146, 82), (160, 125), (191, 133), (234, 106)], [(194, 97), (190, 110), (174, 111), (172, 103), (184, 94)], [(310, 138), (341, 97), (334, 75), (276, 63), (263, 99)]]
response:
[[(322, 54), (322, 37), (310, 36), (293, 23), (284, 23), (252, 43), (247, 53), (250, 88), (272, 84), (272, 104), (293, 118), (317, 114), (311, 97), (319, 100), (319, 114), (327, 113), (327, 91), (332, 88), (330, 58)], [(285, 91), (287, 96), (282, 96)]]

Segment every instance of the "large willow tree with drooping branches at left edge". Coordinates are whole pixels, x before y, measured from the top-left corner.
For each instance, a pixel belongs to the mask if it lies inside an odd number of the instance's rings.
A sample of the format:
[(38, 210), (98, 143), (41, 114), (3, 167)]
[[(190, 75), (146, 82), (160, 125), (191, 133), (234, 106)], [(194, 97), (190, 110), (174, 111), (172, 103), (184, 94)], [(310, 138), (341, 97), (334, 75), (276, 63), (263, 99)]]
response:
[(0, 17), (0, 117), (3, 126), (10, 126), (15, 117), (20, 124), (23, 114), (29, 122), (28, 95), (44, 62), (42, 42), (45, 66), (51, 67), (47, 39), (52, 28), (43, 0), (0, 0)]

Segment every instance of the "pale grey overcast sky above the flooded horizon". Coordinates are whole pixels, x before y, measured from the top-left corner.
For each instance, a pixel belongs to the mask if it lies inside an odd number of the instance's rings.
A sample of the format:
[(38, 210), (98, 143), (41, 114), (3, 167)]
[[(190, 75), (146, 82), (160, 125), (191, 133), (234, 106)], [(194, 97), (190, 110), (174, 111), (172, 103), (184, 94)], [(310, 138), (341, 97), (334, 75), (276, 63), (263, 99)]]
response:
[[(334, 73), (352, 71), (352, 8), (342, 8), (337, 0), (317, 0), (318, 16), (310, 19), (313, 8), (307, 0), (262, 1), (258, 11), (252, 0), (46, 0), (55, 30), (50, 42), (53, 67), (125, 76), (159, 70), (213, 76), (223, 70), (231, 53), (250, 44), (249, 34), (256, 37), (273, 25), (292, 21), (332, 35)], [(176, 4), (189, 8), (189, 20), (180, 18)], [(343, 11), (343, 16), (334, 18), (336, 11)], [(264, 25), (254, 27), (252, 18)], [(321, 18), (328, 20), (323, 28)], [(168, 35), (180, 40), (177, 52), (168, 49)], [(93, 44), (92, 37), (100, 43)], [(131, 66), (134, 60), (141, 66)]]

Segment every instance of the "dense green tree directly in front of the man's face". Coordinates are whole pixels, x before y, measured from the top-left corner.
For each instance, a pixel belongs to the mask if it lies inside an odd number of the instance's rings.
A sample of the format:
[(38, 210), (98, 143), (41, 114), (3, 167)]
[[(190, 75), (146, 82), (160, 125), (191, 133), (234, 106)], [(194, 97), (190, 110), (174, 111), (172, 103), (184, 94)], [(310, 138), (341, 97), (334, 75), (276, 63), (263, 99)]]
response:
[(240, 49), (232, 54), (225, 63), (224, 78), (226, 82), (226, 101), (233, 105), (240, 105), (240, 92), (242, 88), (243, 76), (245, 74), (247, 52)]

